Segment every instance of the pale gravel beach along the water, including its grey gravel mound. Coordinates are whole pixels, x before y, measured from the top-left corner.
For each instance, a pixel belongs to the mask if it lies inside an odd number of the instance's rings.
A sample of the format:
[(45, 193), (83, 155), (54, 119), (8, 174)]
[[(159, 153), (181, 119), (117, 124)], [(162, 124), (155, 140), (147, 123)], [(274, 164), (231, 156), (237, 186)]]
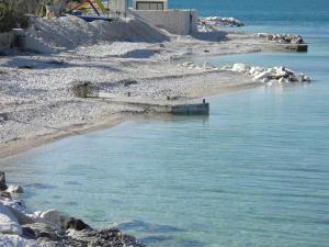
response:
[[(82, 24), (78, 30), (77, 25)], [(107, 35), (122, 27), (132, 29), (129, 24), (136, 29), (141, 26), (143, 32), (132, 34), (128, 42), (122, 31), (121, 36)], [(76, 32), (76, 37), (49, 38), (68, 29)], [(91, 30), (105, 34), (94, 41)], [(71, 89), (77, 83), (92, 82), (112, 97), (129, 92), (139, 99), (163, 100), (169, 96), (190, 100), (261, 82), (206, 65), (195, 69), (178, 66), (181, 60), (193, 56), (284, 49), (257, 35), (218, 31), (178, 36), (140, 21), (123, 22), (111, 30), (103, 23), (81, 23), (73, 18), (53, 23), (39, 20), (30, 32), (31, 35), (36, 33), (36, 37), (56, 52), (0, 58), (0, 157), (97, 126), (109, 126), (144, 112), (138, 106), (76, 98)], [(150, 35), (143, 38), (147, 32)], [(83, 35), (91, 36), (83, 40)], [(77, 44), (76, 40), (79, 40)], [(64, 45), (67, 47), (63, 48)], [(127, 86), (127, 81), (133, 83)]]

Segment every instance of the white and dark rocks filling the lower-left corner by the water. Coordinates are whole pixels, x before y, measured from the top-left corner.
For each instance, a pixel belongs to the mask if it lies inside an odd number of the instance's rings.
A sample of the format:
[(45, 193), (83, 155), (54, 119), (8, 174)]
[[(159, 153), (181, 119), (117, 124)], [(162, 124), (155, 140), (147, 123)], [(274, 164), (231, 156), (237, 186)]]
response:
[(19, 194), (19, 186), (5, 184), (0, 171), (0, 245), (1, 247), (143, 247), (136, 238), (116, 228), (92, 229), (81, 220), (49, 210), (30, 212)]

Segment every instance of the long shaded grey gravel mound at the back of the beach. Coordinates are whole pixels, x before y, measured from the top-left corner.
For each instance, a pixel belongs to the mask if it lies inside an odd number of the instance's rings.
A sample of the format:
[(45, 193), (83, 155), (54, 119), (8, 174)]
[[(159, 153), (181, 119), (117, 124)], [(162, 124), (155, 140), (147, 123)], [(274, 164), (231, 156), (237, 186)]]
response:
[(29, 34), (52, 48), (73, 49), (102, 42), (160, 43), (169, 37), (137, 18), (86, 22), (68, 15), (58, 19), (36, 19)]

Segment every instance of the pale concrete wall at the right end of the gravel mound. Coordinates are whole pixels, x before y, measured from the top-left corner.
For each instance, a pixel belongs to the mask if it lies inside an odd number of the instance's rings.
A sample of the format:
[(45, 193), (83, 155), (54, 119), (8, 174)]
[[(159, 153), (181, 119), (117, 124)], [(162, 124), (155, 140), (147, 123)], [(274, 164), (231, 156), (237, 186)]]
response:
[(173, 34), (188, 35), (194, 33), (197, 26), (198, 16), (195, 10), (134, 10), (133, 13)]

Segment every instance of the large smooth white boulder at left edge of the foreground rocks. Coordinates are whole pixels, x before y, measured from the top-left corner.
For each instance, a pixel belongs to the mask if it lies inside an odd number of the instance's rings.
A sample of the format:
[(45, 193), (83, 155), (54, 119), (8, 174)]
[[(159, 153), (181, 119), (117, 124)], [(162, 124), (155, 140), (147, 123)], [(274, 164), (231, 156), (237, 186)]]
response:
[(22, 227), (19, 224), (18, 218), (1, 202), (0, 202), (0, 233), (22, 235)]

